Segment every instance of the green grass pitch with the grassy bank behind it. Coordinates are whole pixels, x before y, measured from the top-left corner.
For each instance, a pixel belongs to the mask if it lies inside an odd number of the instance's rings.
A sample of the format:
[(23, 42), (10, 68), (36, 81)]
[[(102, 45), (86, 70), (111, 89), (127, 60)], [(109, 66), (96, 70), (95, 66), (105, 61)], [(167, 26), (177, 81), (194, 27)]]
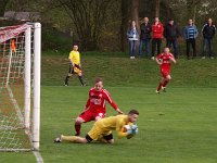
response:
[[(49, 52), (50, 53), (50, 52)], [(138, 162), (215, 163), (217, 161), (216, 60), (178, 60), (167, 92), (155, 93), (159, 74), (146, 59), (130, 61), (123, 54), (85, 53), (82, 67), (88, 86), (71, 78), (67, 53), (43, 54), (41, 90), (41, 150), (48, 163)], [(139, 135), (115, 145), (52, 143), (60, 134), (74, 134), (74, 118), (86, 103), (93, 79), (102, 76), (105, 88), (124, 112), (140, 111)], [(115, 112), (107, 106), (107, 115)], [(82, 136), (92, 123), (82, 126)], [(1, 153), (0, 162), (35, 162), (29, 153)]]

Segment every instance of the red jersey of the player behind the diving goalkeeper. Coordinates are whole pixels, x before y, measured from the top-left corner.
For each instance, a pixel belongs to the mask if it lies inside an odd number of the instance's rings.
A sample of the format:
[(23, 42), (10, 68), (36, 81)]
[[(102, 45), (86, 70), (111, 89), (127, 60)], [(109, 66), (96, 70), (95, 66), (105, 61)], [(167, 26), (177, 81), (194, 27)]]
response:
[(117, 109), (117, 104), (112, 100), (107, 90), (102, 89), (101, 91), (95, 90), (95, 88), (91, 88), (89, 90), (89, 99), (87, 101), (86, 106), (89, 108), (95, 113), (105, 113), (106, 106), (105, 102), (108, 102), (115, 110)]

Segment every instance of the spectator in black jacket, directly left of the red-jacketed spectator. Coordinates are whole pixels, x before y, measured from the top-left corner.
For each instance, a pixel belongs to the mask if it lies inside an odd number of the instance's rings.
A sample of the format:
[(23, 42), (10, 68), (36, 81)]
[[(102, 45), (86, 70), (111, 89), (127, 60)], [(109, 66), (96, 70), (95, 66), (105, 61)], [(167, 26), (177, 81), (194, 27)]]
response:
[(140, 26), (140, 45), (139, 45), (139, 57), (142, 57), (142, 48), (143, 43), (145, 46), (145, 54), (146, 58), (150, 58), (150, 40), (151, 40), (151, 32), (152, 25), (149, 23), (149, 18), (144, 17), (144, 22)]

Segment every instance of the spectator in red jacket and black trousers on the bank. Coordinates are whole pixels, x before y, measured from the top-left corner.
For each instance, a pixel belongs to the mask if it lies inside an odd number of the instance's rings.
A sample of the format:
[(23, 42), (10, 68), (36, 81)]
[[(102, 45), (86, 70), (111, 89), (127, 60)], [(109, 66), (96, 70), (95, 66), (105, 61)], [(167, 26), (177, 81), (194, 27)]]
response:
[(154, 60), (154, 53), (157, 48), (157, 54), (161, 53), (161, 45), (163, 39), (164, 26), (159, 22), (158, 17), (155, 17), (152, 25), (152, 60)]

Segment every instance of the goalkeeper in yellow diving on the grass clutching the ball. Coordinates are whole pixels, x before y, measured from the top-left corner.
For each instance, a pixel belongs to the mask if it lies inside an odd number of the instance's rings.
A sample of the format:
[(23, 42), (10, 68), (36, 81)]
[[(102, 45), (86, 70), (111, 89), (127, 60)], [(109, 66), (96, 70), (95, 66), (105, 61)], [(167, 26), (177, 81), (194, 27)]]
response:
[[(137, 110), (131, 110), (129, 111), (128, 115), (104, 117), (93, 124), (92, 128), (85, 138), (79, 136), (61, 135), (54, 139), (54, 142), (69, 141), (87, 143), (91, 142), (92, 140), (101, 140), (106, 143), (113, 143), (114, 139), (112, 130), (117, 131), (118, 138), (127, 137), (129, 139), (138, 133), (137, 125), (133, 125), (138, 116), (139, 112)], [(130, 128), (126, 130), (125, 125), (130, 126)]]

